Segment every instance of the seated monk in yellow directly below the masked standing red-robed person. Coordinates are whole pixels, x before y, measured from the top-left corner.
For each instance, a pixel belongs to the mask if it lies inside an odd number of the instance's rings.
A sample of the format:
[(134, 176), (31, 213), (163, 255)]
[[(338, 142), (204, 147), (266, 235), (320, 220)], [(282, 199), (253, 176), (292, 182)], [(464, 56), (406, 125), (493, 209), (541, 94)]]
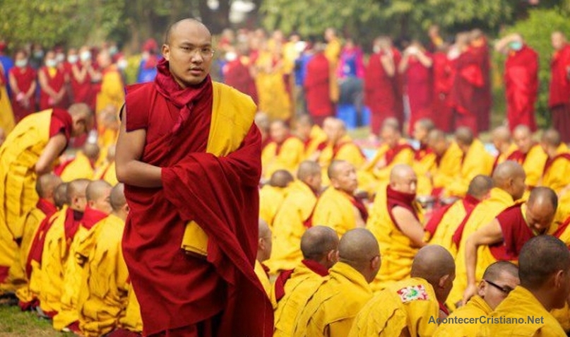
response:
[(513, 130), (513, 140), (517, 150), (508, 159), (523, 165), (526, 172), (526, 188), (533, 189), (542, 177), (548, 155), (540, 144), (533, 141), (533, 133), (526, 125), (516, 126)]

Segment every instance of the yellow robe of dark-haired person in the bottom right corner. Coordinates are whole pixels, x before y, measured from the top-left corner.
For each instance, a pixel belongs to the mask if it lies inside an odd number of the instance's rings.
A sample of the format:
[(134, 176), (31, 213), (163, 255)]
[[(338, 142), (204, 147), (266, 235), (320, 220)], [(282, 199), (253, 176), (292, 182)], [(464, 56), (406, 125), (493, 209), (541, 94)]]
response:
[[(537, 323), (528, 322), (528, 317), (543, 317)], [(492, 312), (489, 319), (520, 319), (523, 324), (482, 324), (477, 336), (533, 336), (565, 337), (566, 333), (557, 320), (547, 312), (536, 297), (525, 288), (518, 286), (509, 293)]]

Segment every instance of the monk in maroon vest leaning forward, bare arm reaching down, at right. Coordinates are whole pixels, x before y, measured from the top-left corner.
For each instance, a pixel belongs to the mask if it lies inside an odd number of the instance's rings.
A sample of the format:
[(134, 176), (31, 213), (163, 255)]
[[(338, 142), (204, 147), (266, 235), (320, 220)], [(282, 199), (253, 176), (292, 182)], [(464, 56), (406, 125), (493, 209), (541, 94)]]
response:
[(550, 230), (558, 207), (558, 197), (547, 187), (530, 191), (526, 203), (506, 208), (491, 223), (476, 230), (465, 241), (465, 271), (467, 288), (463, 303), (475, 295), (482, 280), (482, 271), (494, 261), (518, 260), (523, 245), (537, 235)]

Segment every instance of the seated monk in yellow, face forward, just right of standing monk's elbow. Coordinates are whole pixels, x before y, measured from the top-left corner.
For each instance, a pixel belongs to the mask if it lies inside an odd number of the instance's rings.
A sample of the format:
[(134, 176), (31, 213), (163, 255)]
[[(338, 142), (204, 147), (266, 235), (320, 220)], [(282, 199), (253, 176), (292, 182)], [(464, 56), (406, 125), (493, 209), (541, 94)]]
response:
[(289, 126), (283, 120), (271, 122), (271, 141), (261, 152), (263, 178), (273, 175), (276, 170), (287, 170), (295, 175), (297, 166), (304, 158), (303, 142), (290, 134)]

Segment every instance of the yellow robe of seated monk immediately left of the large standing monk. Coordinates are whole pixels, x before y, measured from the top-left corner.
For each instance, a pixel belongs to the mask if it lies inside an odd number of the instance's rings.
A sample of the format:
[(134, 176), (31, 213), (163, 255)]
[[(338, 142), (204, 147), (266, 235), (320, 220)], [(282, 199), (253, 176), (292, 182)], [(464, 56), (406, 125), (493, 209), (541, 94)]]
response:
[(95, 224), (78, 247), (77, 254), (86, 259), (77, 302), (79, 327), (85, 337), (117, 329), (125, 315), (130, 285), (121, 249), (123, 230), (124, 221), (111, 214)]

